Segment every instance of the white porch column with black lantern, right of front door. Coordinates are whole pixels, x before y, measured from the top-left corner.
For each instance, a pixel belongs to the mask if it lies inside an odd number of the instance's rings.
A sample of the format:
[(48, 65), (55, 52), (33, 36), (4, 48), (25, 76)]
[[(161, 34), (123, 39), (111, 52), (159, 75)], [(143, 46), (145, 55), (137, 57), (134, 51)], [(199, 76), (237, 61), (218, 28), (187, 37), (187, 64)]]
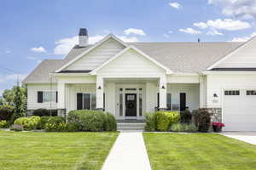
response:
[(160, 77), (159, 83), (159, 109), (162, 111), (166, 111), (166, 93), (167, 93), (167, 83), (166, 76)]

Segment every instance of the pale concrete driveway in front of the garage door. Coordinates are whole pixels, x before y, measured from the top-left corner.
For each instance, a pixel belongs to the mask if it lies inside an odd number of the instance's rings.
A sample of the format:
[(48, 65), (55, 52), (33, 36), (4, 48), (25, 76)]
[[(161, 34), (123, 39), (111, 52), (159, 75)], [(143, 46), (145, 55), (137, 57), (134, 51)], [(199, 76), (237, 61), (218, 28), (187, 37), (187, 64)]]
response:
[(223, 132), (220, 134), (249, 144), (256, 144), (256, 132)]

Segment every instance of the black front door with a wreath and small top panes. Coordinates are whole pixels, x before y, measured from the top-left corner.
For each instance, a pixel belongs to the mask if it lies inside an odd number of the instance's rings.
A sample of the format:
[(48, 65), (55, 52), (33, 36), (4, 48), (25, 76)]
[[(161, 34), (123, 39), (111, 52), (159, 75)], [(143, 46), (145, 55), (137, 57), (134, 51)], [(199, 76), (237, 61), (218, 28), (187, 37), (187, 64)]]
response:
[(137, 94), (125, 94), (125, 116), (137, 116)]

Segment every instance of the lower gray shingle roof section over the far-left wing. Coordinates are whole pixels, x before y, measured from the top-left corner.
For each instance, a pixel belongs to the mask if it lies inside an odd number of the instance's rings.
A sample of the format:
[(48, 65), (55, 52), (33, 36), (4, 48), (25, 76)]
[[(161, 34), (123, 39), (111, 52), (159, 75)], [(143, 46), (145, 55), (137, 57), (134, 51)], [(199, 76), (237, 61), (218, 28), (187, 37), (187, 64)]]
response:
[(23, 82), (49, 82), (49, 73), (53, 73), (61, 67), (63, 59), (45, 59), (43, 60), (24, 80)]

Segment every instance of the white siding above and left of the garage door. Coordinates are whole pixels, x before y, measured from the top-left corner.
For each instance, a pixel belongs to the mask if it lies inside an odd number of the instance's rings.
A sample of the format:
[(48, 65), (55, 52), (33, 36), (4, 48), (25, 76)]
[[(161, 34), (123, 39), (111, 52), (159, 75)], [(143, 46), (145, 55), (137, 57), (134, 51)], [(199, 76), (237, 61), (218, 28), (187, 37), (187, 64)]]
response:
[[(223, 89), (256, 89), (255, 74), (214, 74), (207, 75), (207, 107), (221, 107)], [(214, 99), (213, 94), (218, 98)]]

